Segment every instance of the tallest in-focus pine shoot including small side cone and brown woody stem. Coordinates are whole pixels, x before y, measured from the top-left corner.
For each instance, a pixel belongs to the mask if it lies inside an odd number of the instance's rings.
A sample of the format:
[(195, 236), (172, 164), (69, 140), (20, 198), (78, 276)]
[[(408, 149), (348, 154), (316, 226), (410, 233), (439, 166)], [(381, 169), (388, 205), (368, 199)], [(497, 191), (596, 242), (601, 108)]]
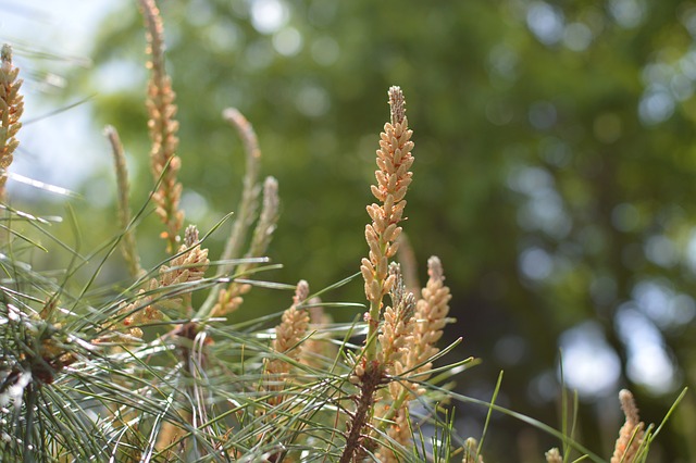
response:
[[(370, 302), (370, 310), (365, 314), (368, 339), (363, 355), (355, 365), (350, 378), (359, 386), (360, 392), (339, 460), (341, 463), (361, 458), (368, 448), (374, 445), (372, 438), (363, 434), (363, 429), (373, 417), (378, 389), (389, 381), (387, 372), (394, 368), (395, 362), (401, 356), (400, 349), (407, 339), (412, 314), (407, 310), (410, 302), (395, 301), (394, 308), (388, 310), (389, 313), (385, 313), (384, 333), (380, 335), (382, 301), (384, 296), (395, 288), (397, 281), (397, 273), (389, 275), (389, 260), (398, 249), (396, 240), (401, 234), (398, 224), (403, 220), (403, 198), (413, 175), (410, 172), (413, 164), (413, 133), (408, 128), (403, 93), (399, 87), (394, 86), (389, 88), (388, 96), (391, 117), (390, 122), (384, 125), (384, 132), (380, 136), (380, 149), (376, 151), (378, 170), (375, 171), (377, 184), (371, 187), (372, 195), (380, 204), (372, 203), (366, 208), (372, 218), (372, 223), (365, 226), (365, 240), (370, 251), (369, 259), (362, 259), (360, 265), (365, 297)], [(397, 291), (400, 295), (403, 292), (400, 281)]]

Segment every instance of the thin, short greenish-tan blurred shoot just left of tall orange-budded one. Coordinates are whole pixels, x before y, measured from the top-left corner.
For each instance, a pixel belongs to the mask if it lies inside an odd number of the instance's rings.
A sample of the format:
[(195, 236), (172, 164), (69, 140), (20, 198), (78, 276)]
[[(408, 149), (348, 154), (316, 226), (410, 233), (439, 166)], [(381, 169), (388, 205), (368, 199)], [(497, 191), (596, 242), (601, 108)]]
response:
[(126, 157), (123, 152), (121, 138), (114, 127), (108, 125), (104, 128), (104, 135), (111, 145), (114, 165), (116, 170), (116, 187), (119, 189), (119, 222), (123, 229), (123, 239), (121, 240), (121, 250), (123, 258), (128, 266), (128, 273), (133, 278), (139, 278), (142, 274), (140, 266), (140, 256), (135, 240), (135, 234), (130, 226), (130, 205), (128, 200), (128, 170), (126, 167)]

